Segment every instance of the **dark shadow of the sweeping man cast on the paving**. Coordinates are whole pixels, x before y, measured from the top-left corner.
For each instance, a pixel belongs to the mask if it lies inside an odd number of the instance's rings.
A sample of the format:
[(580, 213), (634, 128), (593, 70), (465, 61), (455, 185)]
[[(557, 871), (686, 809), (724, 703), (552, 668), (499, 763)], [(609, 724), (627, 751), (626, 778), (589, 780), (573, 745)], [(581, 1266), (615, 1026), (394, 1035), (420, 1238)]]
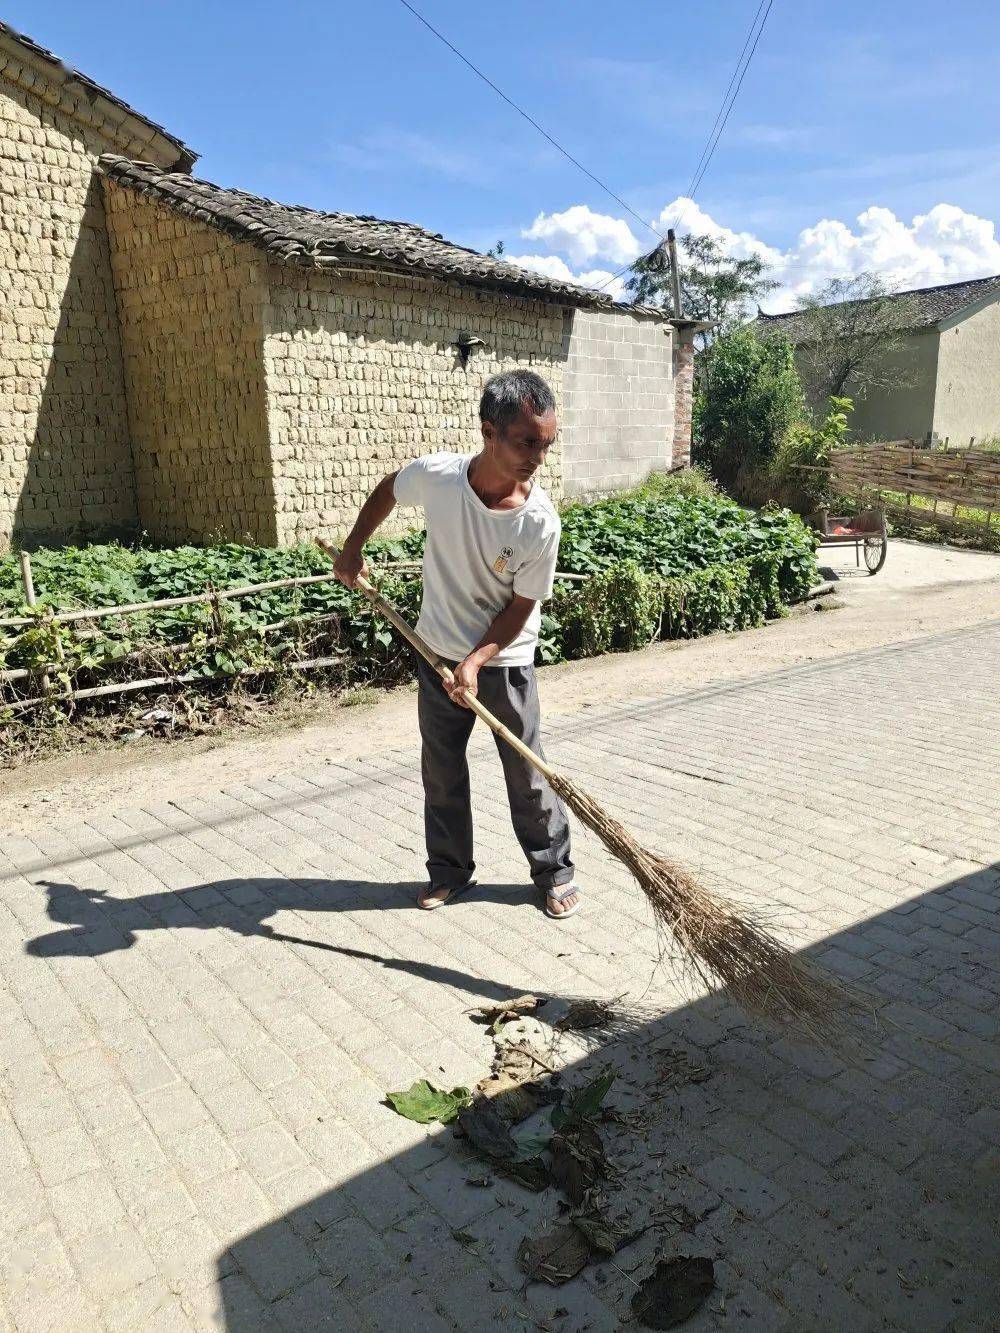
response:
[[(324, 949), (348, 958), (361, 958), (397, 972), (408, 972), (427, 981), (456, 986), (489, 1000), (509, 1000), (520, 992), (497, 981), (475, 977), (456, 968), (392, 958), (365, 953), (328, 940), (308, 938), (277, 930), (268, 917), (279, 912), (417, 912), (417, 881), (379, 884), (368, 880), (216, 880), (191, 889), (164, 889), (132, 898), (109, 897), (104, 889), (84, 889), (75, 884), (51, 880), (35, 881), (48, 894), (48, 914), (67, 926), (37, 936), (25, 945), (36, 958), (95, 958), (105, 953), (131, 949), (140, 930), (191, 928), (200, 930), (229, 929), (236, 934), (259, 936), (281, 944)], [(541, 910), (541, 896), (531, 885), (483, 884), (463, 894), (461, 901), (504, 902), (508, 906), (535, 904)], [(449, 905), (436, 908), (449, 910)]]

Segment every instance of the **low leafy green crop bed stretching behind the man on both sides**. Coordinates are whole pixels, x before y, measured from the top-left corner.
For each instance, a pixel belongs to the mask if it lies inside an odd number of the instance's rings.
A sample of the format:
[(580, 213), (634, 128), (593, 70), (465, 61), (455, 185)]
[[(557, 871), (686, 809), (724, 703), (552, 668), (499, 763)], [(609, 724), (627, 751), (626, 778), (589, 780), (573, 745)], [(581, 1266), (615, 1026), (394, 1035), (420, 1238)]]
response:
[[(409, 533), (371, 543), (369, 561), (415, 560), (423, 540), (423, 533)], [(759, 625), (815, 581), (813, 548), (793, 515), (741, 509), (699, 473), (651, 479), (632, 495), (569, 505), (559, 568), (593, 577), (559, 584), (544, 608), (540, 660)], [(56, 692), (184, 676), (192, 689), (239, 677), (265, 693), (289, 664), (317, 657), (337, 657), (336, 681), (353, 689), (412, 676), (409, 647), (364, 597), (339, 583), (265, 588), (239, 600), (211, 596), (212, 589), (328, 573), (328, 559), (311, 544), (67, 547), (40, 551), (32, 564), (39, 605), (29, 613), (16, 557), (0, 560), (0, 616), (31, 621), (0, 631), (0, 665), (31, 672), (15, 684), (21, 697), (37, 693), (43, 669)], [(380, 583), (403, 615), (416, 620), (420, 579), (385, 573)], [(75, 624), (52, 620), (53, 609), (185, 596), (203, 600)]]

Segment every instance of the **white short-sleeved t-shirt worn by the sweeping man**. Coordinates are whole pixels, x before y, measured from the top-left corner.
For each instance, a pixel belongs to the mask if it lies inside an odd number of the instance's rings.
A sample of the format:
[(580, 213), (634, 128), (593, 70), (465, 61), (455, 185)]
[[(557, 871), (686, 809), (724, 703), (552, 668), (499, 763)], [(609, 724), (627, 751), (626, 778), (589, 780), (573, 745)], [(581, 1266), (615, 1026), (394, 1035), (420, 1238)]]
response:
[[(544, 601), (552, 592), (560, 523), (537, 483), (517, 509), (488, 509), (469, 485), (472, 459), (431, 453), (400, 469), (393, 493), (427, 519), (424, 600), (417, 631), (440, 653), (465, 657), (515, 596)], [(541, 608), (488, 666), (535, 661)]]

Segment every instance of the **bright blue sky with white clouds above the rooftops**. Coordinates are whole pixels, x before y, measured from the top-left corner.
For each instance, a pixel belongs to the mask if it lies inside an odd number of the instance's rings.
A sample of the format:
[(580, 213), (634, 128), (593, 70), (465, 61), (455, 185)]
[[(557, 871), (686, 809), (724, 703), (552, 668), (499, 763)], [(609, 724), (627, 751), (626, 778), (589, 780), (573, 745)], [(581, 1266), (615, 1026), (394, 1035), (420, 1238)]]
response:
[[(657, 227), (757, 8), (416, 3)], [(503, 239), (588, 280), (655, 241), (399, 0), (7, 0), (3, 16), (180, 135), (220, 184)], [(999, 57), (984, 0), (775, 0), (683, 228), (764, 253), (785, 300), (859, 268), (903, 285), (1000, 272)]]

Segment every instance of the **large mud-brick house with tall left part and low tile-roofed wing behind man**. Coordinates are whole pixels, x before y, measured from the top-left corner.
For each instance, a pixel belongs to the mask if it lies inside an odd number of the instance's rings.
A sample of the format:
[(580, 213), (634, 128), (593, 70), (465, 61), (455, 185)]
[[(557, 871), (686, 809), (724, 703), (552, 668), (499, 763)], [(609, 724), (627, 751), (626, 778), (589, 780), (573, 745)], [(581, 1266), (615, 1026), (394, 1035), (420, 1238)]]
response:
[(560, 404), (555, 499), (689, 460), (692, 320), (197, 180), (5, 24), (0, 136), (0, 547), (336, 536), (384, 473), (471, 452), (515, 365)]

